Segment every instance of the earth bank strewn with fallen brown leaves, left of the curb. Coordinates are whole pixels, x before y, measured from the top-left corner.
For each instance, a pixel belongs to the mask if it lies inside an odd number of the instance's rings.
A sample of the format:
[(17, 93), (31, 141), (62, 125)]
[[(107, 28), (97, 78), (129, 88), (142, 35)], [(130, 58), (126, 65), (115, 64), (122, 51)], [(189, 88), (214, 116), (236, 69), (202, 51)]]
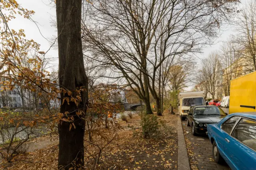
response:
[[(85, 137), (84, 162), (87, 169), (178, 168), (177, 115), (164, 113), (159, 117), (159, 131), (151, 139), (143, 138), (139, 115), (133, 115), (132, 119), (127, 120), (128, 122), (119, 120), (124, 130), (116, 131), (108, 139), (95, 137), (93, 142), (89, 142), (86, 139), (88, 136)], [(9, 170), (54, 170), (57, 169), (57, 164), (58, 144), (55, 144), (26, 155), (18, 155), (10, 164), (2, 162), (2, 168), (5, 165), (5, 169)]]

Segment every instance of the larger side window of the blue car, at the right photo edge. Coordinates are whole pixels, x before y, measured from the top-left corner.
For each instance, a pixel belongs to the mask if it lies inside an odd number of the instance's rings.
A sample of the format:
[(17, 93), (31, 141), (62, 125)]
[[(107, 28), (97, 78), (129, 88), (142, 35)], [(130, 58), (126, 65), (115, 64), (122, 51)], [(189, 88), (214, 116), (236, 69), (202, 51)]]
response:
[(232, 132), (232, 137), (256, 150), (256, 121), (241, 119)]

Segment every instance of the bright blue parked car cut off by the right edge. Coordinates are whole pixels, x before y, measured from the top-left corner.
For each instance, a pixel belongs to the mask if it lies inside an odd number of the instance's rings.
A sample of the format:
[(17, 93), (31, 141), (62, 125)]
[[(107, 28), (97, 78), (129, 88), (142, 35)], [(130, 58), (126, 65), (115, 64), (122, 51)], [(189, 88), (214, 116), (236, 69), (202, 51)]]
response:
[(234, 113), (207, 126), (214, 161), (232, 170), (256, 170), (256, 113)]

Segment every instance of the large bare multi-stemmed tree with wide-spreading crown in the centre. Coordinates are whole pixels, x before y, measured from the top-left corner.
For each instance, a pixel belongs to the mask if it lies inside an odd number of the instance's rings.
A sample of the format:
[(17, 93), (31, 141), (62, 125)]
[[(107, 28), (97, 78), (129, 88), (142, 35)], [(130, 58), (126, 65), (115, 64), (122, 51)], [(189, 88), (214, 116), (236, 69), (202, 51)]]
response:
[[(84, 6), (84, 55), (112, 65), (152, 113), (149, 93), (161, 115), (162, 63), (200, 51), (234, 10), (224, 0), (96, 0)], [(85, 24), (86, 23), (86, 24)], [(157, 74), (158, 73), (158, 74)], [(114, 78), (114, 77), (113, 77)]]

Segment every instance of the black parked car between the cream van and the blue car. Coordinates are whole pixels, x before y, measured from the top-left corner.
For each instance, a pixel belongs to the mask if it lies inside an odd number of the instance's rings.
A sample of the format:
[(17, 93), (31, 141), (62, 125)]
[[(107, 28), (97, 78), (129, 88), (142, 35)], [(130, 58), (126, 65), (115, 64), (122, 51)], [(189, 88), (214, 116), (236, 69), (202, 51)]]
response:
[(192, 126), (193, 135), (205, 134), (207, 125), (218, 123), (227, 114), (217, 106), (193, 106), (188, 110), (187, 125)]

